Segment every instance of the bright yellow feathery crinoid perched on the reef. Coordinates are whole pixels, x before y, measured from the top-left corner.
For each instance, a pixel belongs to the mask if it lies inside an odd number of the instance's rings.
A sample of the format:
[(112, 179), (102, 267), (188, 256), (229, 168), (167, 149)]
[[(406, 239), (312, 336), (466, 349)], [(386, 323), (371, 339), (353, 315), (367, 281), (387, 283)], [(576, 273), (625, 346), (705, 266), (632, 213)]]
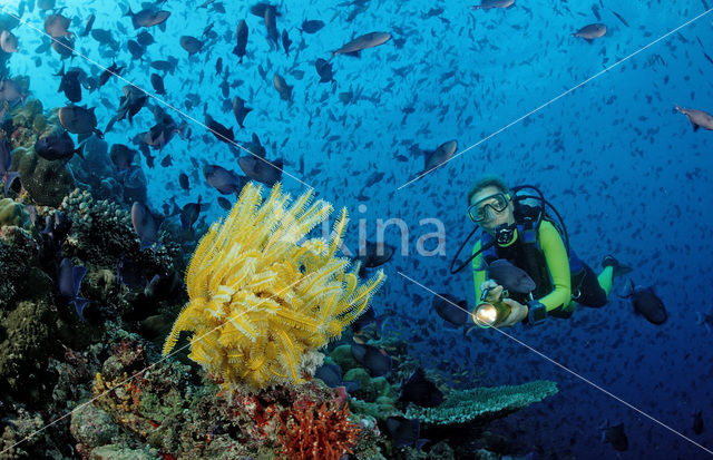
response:
[(280, 184), (261, 206), (261, 187), (246, 185), (226, 221), (214, 224), (186, 274), (189, 302), (166, 340), (193, 331), (189, 358), (224, 389), (260, 390), (295, 383), (313, 372), (314, 351), (341, 335), (368, 306), (384, 278), (358, 285), (358, 270), (336, 257), (346, 209), (331, 239), (299, 243), (331, 213), (311, 192), (291, 207)]

